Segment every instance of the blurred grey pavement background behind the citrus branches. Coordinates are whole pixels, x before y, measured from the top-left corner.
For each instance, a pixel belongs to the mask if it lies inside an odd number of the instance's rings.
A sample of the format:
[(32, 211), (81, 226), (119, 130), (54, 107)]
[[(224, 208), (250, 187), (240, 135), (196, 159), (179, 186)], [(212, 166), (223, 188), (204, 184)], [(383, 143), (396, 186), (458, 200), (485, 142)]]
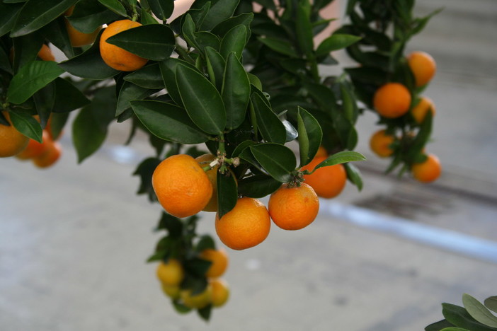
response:
[[(324, 16), (342, 17), (344, 5)], [(437, 108), (428, 151), (442, 161), (438, 182), (384, 175), (367, 146), (376, 118), (361, 117), (362, 192), (348, 185), (321, 200), (312, 226), (273, 226), (256, 248), (228, 250), (232, 296), (205, 323), (178, 315), (145, 263), (161, 209), (135, 195), (132, 173), (152, 155), (148, 142), (122, 146), (128, 127), (115, 125), (77, 165), (66, 132), (52, 168), (0, 161), (0, 330), (415, 331), (443, 318), (442, 302), (496, 295), (497, 2), (416, 1), (419, 16), (440, 7), (409, 43), (438, 64), (425, 91)], [(213, 214), (199, 232), (215, 236)]]

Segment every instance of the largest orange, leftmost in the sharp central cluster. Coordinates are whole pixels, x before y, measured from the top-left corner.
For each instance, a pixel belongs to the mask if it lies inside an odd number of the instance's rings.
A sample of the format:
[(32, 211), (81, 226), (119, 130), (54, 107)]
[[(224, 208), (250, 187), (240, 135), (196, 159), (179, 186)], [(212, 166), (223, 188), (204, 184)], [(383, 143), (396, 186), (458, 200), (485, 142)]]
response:
[(152, 175), (152, 187), (161, 206), (176, 217), (197, 214), (212, 197), (207, 174), (186, 154), (169, 156), (159, 163)]

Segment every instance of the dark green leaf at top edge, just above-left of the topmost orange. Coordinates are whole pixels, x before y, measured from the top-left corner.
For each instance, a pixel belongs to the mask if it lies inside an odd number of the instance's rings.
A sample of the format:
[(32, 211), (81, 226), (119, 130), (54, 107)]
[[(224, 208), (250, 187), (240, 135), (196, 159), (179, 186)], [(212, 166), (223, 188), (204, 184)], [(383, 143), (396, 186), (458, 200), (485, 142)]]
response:
[(71, 16), (67, 16), (67, 21), (82, 33), (93, 33), (101, 25), (119, 18), (118, 14), (102, 6), (98, 0), (83, 0), (74, 6)]

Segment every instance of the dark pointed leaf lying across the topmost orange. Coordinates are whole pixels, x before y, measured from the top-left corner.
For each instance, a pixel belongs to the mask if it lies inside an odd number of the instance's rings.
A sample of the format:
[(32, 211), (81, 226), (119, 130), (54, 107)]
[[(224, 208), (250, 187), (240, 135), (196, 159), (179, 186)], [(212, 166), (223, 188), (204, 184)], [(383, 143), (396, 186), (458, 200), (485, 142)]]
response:
[(173, 30), (162, 24), (137, 26), (109, 37), (107, 42), (145, 59), (168, 59), (175, 47)]

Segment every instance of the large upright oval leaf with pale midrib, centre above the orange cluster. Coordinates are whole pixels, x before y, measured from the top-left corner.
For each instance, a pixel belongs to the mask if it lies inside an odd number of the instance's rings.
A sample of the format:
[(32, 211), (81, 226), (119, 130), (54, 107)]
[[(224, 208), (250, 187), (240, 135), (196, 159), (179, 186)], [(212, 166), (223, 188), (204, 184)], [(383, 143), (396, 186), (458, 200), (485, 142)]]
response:
[(216, 87), (200, 72), (178, 65), (176, 83), (188, 115), (202, 131), (219, 134), (226, 125), (226, 110)]

